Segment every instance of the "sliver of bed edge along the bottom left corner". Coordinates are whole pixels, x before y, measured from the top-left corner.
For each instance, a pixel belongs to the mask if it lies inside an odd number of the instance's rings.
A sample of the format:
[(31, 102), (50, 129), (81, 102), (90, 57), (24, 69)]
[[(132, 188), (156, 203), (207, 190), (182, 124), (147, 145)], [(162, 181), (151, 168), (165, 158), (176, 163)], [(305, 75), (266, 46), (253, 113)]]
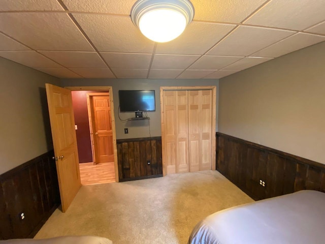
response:
[(107, 238), (99, 236), (59, 236), (49, 239), (10, 239), (0, 240), (1, 244), (112, 244)]

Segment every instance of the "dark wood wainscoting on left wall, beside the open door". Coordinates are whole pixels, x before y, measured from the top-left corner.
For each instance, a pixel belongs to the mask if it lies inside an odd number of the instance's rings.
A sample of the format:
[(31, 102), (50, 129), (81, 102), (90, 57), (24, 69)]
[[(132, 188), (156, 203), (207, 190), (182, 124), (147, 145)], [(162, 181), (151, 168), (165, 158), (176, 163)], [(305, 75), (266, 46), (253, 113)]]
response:
[(34, 237), (60, 204), (53, 155), (49, 151), (0, 175), (0, 239)]

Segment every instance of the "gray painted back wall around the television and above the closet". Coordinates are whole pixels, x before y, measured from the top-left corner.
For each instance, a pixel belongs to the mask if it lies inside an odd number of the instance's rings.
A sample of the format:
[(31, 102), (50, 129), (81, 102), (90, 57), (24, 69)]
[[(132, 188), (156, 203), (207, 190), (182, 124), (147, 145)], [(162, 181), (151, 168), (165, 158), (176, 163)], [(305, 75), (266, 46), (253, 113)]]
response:
[[(114, 114), (116, 125), (116, 138), (141, 138), (161, 136), (160, 128), (160, 86), (203, 86), (216, 85), (218, 95), (219, 81), (217, 79), (181, 80), (181, 79), (62, 79), (62, 86), (112, 86), (114, 97)], [(118, 118), (118, 90), (155, 90), (156, 111), (148, 112), (150, 120), (123, 122)], [(217, 98), (218, 101), (218, 98)], [(217, 111), (218, 114), (218, 103)], [(135, 117), (134, 113), (120, 113), (121, 119)], [(149, 134), (150, 124), (150, 134)], [(128, 134), (124, 134), (128, 128)], [(217, 130), (217, 128), (216, 128)]]

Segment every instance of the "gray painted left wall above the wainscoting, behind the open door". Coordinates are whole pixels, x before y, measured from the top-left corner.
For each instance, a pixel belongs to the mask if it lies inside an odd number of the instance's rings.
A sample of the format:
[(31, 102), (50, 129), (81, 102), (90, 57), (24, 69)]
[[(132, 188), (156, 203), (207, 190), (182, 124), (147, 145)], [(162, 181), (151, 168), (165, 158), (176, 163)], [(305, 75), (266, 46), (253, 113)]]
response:
[(53, 148), (45, 83), (59, 79), (0, 57), (0, 174)]

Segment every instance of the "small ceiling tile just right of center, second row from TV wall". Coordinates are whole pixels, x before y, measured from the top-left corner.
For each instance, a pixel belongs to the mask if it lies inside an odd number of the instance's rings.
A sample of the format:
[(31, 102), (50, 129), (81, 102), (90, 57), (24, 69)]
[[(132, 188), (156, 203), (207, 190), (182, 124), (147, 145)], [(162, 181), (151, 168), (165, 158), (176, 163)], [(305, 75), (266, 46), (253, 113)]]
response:
[(184, 70), (194, 63), (199, 55), (155, 54), (151, 69), (153, 70)]

